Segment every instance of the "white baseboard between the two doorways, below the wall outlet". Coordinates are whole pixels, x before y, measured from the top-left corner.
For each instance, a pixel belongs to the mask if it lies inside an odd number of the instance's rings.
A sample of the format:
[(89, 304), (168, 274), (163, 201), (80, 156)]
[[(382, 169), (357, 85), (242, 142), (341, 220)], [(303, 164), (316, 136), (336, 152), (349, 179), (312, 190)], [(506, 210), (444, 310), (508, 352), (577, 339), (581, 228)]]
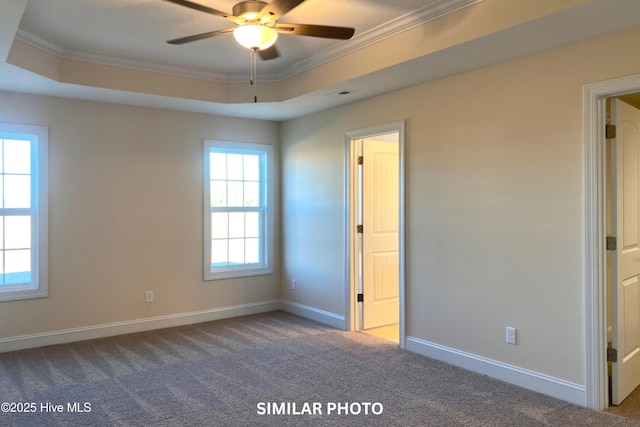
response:
[(586, 387), (517, 366), (498, 362), (415, 337), (407, 337), (406, 349), (469, 371), (487, 375), (538, 393), (585, 407)]

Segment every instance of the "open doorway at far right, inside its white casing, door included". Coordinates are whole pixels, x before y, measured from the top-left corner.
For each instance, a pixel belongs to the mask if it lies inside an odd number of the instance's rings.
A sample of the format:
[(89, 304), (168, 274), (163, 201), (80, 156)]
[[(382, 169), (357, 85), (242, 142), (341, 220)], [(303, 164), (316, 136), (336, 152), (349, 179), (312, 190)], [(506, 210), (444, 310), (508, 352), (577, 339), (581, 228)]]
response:
[(640, 94), (606, 99), (608, 405), (640, 418)]

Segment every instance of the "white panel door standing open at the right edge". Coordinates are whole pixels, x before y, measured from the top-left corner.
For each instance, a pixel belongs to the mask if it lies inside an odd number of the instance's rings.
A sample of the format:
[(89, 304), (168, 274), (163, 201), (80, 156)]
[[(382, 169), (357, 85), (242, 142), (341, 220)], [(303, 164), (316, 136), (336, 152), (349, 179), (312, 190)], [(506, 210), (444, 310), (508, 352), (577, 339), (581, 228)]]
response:
[(640, 110), (611, 101), (613, 253), (612, 403), (620, 404), (640, 385)]

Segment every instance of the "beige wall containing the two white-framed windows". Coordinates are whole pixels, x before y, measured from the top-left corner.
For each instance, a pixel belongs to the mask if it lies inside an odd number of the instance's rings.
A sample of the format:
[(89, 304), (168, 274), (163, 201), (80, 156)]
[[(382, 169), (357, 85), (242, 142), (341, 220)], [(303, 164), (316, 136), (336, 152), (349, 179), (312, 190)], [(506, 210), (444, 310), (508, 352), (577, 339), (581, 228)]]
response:
[(50, 180), (50, 296), (0, 303), (0, 338), (279, 297), (278, 268), (202, 280), (202, 139), (277, 154), (277, 123), (6, 92), (0, 122), (49, 127)]

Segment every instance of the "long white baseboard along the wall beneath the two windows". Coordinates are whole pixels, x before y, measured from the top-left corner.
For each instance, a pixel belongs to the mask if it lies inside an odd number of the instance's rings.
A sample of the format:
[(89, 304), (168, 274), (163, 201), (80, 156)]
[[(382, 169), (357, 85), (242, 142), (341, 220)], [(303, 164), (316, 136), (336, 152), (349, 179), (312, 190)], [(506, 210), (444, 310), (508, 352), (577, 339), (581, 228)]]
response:
[(73, 341), (83, 341), (95, 338), (105, 338), (114, 335), (144, 332), (153, 329), (170, 328), (173, 326), (190, 325), (194, 323), (210, 322), (212, 320), (231, 317), (247, 316), (281, 309), (280, 301), (262, 301), (242, 304), (232, 307), (215, 308), (212, 310), (194, 311), (190, 313), (170, 314), (167, 316), (150, 317), (125, 322), (108, 323), (104, 325), (86, 326), (45, 332), (41, 334), (22, 335), (17, 337), (0, 338), (0, 353), (27, 348), (42, 347), (52, 344), (64, 344)]

